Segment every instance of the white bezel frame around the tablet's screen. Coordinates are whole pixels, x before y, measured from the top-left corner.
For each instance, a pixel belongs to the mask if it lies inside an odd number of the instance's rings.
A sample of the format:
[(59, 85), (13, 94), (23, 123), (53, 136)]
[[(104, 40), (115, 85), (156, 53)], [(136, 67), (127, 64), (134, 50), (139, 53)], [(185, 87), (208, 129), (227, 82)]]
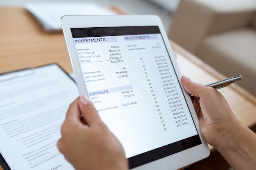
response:
[[(115, 22), (109, 22), (110, 20), (115, 20)], [(71, 28), (158, 26), (162, 34), (162, 38), (164, 40), (167, 52), (170, 55), (171, 62), (173, 63), (173, 68), (178, 77), (178, 81), (181, 84), (182, 75), (178, 68), (175, 55), (171, 49), (168, 37), (165, 33), (164, 26), (162, 25), (161, 19), (157, 15), (65, 15), (61, 18), (61, 24), (80, 95), (88, 94), (86, 91), (85, 82), (83, 80), (83, 74), (77, 57), (76, 48), (71, 33)], [(209, 148), (206, 142), (203, 140), (202, 135), (200, 133), (198, 117), (193, 108), (190, 96), (184, 90), (183, 86), (181, 86), (181, 88), (186, 103), (188, 104), (189, 110), (191, 112), (191, 116), (194, 121), (195, 127), (198, 131), (198, 135), (200, 137), (200, 140), (202, 141), (202, 144), (183, 150), (181, 152), (177, 152), (173, 155), (169, 155), (167, 157), (152, 161), (150, 163), (146, 163), (142, 166), (138, 166), (136, 168), (133, 168), (133, 170), (155, 170), (159, 168), (161, 168), (162, 170), (178, 169), (209, 156)]]

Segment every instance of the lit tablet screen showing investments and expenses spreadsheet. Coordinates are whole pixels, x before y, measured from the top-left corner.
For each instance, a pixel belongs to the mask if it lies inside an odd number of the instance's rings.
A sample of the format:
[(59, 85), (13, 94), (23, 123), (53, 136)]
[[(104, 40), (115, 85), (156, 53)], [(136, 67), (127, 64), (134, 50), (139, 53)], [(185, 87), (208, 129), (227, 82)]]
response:
[(88, 95), (130, 168), (202, 143), (158, 26), (71, 32)]

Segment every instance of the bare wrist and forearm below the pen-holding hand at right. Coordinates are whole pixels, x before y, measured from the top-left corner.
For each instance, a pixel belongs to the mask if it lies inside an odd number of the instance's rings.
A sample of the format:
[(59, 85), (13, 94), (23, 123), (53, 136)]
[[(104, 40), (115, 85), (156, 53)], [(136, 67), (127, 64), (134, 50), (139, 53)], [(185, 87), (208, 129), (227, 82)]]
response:
[[(233, 169), (252, 170), (256, 167), (256, 135), (237, 121), (233, 128), (225, 129), (215, 148)], [(225, 135), (226, 134), (226, 135)], [(218, 139), (216, 139), (218, 140)]]

